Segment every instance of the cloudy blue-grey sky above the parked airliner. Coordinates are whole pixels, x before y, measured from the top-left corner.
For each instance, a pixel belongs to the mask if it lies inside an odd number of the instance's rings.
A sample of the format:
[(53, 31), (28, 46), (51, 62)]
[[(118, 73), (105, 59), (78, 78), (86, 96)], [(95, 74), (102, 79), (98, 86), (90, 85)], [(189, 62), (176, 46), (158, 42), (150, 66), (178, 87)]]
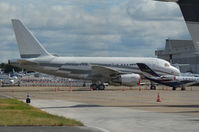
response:
[(165, 39), (190, 39), (179, 7), (153, 0), (0, 0), (0, 62), (19, 58), (11, 19), (50, 53), (150, 56)]

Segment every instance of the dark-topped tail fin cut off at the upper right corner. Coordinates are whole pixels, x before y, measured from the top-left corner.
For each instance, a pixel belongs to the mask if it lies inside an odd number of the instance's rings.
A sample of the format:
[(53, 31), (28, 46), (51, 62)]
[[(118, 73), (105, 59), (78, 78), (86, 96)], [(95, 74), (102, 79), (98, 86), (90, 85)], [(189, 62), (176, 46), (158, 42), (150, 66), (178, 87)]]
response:
[(199, 0), (156, 0), (176, 2), (182, 11), (186, 25), (192, 37), (196, 54), (199, 54)]

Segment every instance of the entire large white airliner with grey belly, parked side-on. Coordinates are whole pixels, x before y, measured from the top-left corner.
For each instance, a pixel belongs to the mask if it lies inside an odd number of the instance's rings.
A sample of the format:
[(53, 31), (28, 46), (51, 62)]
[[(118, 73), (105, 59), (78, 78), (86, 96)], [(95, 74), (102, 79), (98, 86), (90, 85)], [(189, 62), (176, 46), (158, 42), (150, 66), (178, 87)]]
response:
[(146, 57), (59, 57), (48, 53), (20, 20), (12, 20), (21, 59), (12, 65), (54, 76), (92, 81), (91, 88), (104, 90), (104, 83), (133, 86), (140, 84), (144, 63), (160, 75), (179, 75), (169, 62)]

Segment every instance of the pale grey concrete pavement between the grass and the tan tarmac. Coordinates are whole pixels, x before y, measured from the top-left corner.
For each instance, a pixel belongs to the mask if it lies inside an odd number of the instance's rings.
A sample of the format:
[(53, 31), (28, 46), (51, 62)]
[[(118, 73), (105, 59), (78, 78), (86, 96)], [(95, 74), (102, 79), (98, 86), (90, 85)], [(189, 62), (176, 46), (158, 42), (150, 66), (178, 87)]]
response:
[(74, 118), (86, 126), (110, 132), (198, 132), (199, 118), (63, 100), (33, 100), (51, 114)]

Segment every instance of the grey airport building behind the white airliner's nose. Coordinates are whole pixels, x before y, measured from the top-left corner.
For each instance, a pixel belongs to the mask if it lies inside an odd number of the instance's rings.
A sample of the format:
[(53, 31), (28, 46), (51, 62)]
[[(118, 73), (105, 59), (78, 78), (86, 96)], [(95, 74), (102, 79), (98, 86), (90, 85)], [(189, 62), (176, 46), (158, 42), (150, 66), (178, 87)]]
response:
[(165, 48), (156, 50), (158, 58), (179, 65), (181, 72), (199, 74), (199, 55), (196, 52), (192, 40), (166, 40)]

